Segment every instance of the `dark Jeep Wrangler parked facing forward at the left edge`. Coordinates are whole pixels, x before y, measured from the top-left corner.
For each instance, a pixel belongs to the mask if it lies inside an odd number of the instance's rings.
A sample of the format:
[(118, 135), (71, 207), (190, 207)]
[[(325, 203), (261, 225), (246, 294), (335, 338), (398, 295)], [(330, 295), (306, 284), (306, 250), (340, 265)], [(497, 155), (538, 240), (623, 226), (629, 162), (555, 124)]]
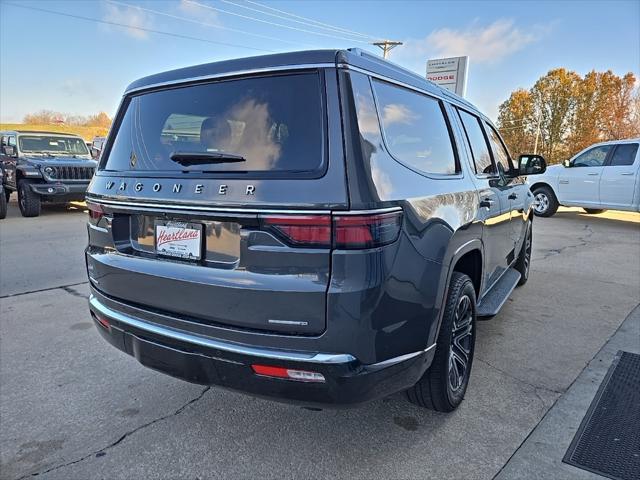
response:
[(40, 215), (42, 202), (83, 201), (97, 162), (77, 135), (0, 132), (0, 165), (5, 199), (18, 192), (24, 217)]

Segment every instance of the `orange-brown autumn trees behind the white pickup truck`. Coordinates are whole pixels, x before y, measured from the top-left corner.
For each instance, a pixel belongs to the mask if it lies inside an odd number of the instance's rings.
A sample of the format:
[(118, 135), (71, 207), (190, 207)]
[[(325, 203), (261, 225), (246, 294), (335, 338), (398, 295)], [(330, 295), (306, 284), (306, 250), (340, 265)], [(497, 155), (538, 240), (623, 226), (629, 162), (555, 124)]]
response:
[(640, 92), (632, 73), (549, 71), (499, 107), (498, 126), (514, 154), (533, 150), (550, 164), (597, 142), (640, 135)]

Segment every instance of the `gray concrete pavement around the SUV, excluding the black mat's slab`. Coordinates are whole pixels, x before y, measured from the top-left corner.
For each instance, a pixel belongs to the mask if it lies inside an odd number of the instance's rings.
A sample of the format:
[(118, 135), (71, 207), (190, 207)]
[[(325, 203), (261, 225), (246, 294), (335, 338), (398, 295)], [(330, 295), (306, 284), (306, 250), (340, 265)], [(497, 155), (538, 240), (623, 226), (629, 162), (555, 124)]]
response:
[(640, 302), (640, 215), (536, 218), (531, 278), (479, 324), (456, 412), (401, 394), (309, 411), (191, 385), (107, 345), (87, 309), (85, 216), (21, 218), (14, 201), (0, 222), (3, 479), (515, 477), (522, 467), (505, 466)]

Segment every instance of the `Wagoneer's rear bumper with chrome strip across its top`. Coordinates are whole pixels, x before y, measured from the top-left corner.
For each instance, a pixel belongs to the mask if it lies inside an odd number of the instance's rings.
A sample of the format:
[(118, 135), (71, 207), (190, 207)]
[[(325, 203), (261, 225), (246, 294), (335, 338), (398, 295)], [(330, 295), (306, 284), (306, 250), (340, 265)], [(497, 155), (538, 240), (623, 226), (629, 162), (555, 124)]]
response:
[[(364, 365), (348, 353), (284, 351), (220, 341), (151, 323), (105, 305), (91, 295), (100, 334), (141, 364), (203, 385), (310, 406), (347, 406), (382, 398), (414, 385), (431, 364), (430, 348)], [(104, 326), (98, 319), (107, 320)], [(321, 373), (325, 382), (256, 375), (252, 364)]]

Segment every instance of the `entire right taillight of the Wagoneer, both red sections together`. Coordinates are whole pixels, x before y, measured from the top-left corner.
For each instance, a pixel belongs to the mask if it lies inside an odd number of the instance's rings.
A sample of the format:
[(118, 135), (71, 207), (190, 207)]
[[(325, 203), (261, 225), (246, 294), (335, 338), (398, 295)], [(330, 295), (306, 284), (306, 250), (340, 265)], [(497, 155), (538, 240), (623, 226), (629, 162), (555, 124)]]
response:
[(397, 240), (402, 211), (374, 214), (265, 215), (262, 227), (295, 247), (358, 249)]

